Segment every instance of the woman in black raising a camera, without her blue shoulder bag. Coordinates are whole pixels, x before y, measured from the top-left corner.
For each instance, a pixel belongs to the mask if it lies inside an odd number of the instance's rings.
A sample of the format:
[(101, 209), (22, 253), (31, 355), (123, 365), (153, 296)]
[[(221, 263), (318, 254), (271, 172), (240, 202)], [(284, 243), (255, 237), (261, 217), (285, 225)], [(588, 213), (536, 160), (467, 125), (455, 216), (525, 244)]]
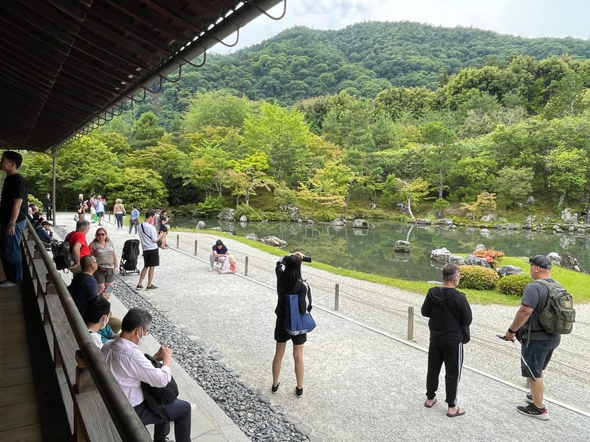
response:
[[(295, 386), (295, 396), (298, 398), (303, 396), (303, 345), (307, 340), (307, 334), (299, 334), (293, 336), (288, 334), (285, 330), (285, 311), (286, 311), (286, 295), (299, 295), (299, 312), (304, 313), (306, 310), (311, 311), (311, 289), (306, 281), (301, 276), (301, 262), (311, 262), (311, 258), (305, 256), (299, 251), (285, 256), (281, 261), (277, 262), (275, 273), (277, 273), (277, 308), (275, 314), (277, 315), (277, 322), (275, 324), (275, 341), (277, 346), (275, 349), (275, 357), (273, 358), (273, 385), (271, 391), (277, 393), (279, 391), (279, 375), (281, 374), (281, 365), (283, 356), (285, 354), (286, 343), (288, 340), (293, 341), (293, 360), (295, 361), (295, 378), (297, 385)], [(309, 305), (306, 305), (306, 298), (309, 298)]]

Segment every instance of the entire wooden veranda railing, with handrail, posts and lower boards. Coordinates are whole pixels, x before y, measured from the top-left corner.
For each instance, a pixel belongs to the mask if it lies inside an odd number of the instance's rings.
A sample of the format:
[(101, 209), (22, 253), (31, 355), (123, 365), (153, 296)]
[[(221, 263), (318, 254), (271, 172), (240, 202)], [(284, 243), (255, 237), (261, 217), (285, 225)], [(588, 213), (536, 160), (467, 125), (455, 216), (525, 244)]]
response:
[(91, 341), (52, 257), (30, 222), (24, 249), (70, 430), (76, 442), (149, 442), (151, 437)]

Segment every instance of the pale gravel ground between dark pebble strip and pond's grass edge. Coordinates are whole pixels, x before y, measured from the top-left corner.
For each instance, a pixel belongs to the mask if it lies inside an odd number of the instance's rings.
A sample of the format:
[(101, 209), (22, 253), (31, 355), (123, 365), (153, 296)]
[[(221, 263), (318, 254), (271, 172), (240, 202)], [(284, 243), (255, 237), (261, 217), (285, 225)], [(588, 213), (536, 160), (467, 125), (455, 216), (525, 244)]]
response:
[[(122, 249), (127, 231), (107, 228), (118, 250)], [(515, 412), (515, 405), (524, 403), (525, 391), (519, 357), (510, 343), (495, 337), (506, 330), (516, 307), (472, 306), (472, 342), (465, 347), (459, 397), (468, 414), (448, 419), (442, 399), (432, 410), (422, 406), (427, 356), (427, 324), (419, 316), (423, 295), (336, 276), (313, 265), (303, 270), (313, 290), (318, 324), (305, 346), (305, 395), (293, 394), (290, 354), (284, 359), (279, 393), (268, 394), (270, 398), (259, 394), (270, 393), (277, 258), (224, 240), (237, 256), (238, 273), (218, 275), (208, 271), (208, 253), (215, 239), (208, 233), (180, 233), (178, 250), (160, 251), (154, 278), (157, 290), (143, 290), (134, 298), (137, 276), (120, 281), (133, 287), (129, 304), (149, 302), (179, 331), (172, 344), (187, 345), (183, 352), (187, 371), (195, 373), (228, 414), (246, 423), (242, 429), (254, 433), (252, 440), (299, 440), (299, 432), (307, 434), (311, 429), (311, 440), (324, 441), (443, 441), (448, 439), (445, 430), (452, 430), (459, 441), (527, 440), (531, 434), (545, 441), (582, 441), (590, 434), (589, 305), (576, 306), (579, 319), (574, 333), (563, 337), (546, 372), (551, 415), (546, 422)], [(168, 244), (176, 247), (174, 231)], [(246, 256), (248, 278), (243, 276)], [(333, 310), (336, 283), (340, 285), (339, 311)], [(405, 340), (408, 307), (415, 312), (413, 341)], [(198, 336), (199, 349), (192, 349), (194, 344), (185, 342), (185, 336)], [(202, 360), (213, 361), (213, 355), (221, 358), (221, 364), (210, 363), (212, 370), (223, 376), (200, 378), (201, 365), (206, 365)], [(229, 397), (232, 405), (227, 406)], [(271, 406), (264, 409), (259, 403), (266, 401)], [(424, 425), (426, 419), (428, 425)], [(282, 429), (264, 434), (265, 422), (270, 427), (282, 422)], [(433, 433), (433, 425), (442, 431)]]

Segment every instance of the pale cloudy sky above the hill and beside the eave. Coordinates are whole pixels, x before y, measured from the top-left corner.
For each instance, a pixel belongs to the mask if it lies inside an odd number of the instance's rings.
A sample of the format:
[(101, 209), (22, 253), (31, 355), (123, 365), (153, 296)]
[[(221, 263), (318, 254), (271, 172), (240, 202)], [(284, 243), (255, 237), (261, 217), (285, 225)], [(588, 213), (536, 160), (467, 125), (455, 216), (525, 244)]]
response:
[[(231, 51), (261, 43), (293, 26), (340, 29), (362, 21), (417, 21), (434, 26), (472, 26), (521, 37), (590, 39), (588, 0), (286, 0), (286, 15), (264, 15), (240, 32)], [(279, 17), (284, 3), (269, 11)], [(228, 37), (232, 41), (232, 37)], [(228, 52), (216, 45), (214, 52)]]

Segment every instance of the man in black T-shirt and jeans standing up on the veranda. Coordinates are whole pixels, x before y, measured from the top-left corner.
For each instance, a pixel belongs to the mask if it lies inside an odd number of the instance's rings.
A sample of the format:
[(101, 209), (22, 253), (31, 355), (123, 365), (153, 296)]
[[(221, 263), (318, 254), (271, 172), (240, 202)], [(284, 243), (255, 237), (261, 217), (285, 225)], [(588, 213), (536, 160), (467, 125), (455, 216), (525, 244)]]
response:
[(13, 287), (23, 282), (21, 238), (27, 218), (27, 183), (19, 173), (23, 157), (15, 151), (4, 151), (0, 168), (6, 172), (0, 200), (0, 253), (6, 281), (0, 287)]

